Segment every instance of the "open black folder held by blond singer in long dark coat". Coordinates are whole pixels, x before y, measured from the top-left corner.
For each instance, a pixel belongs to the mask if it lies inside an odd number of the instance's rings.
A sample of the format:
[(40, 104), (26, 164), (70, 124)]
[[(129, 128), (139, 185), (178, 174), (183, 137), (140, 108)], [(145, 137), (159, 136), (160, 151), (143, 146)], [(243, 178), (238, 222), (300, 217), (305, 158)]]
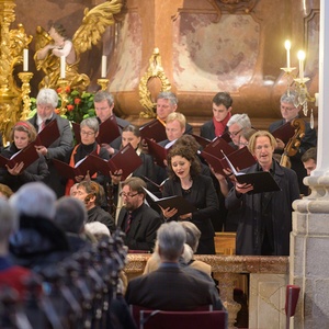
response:
[(281, 191), (280, 186), (269, 171), (257, 171), (250, 173), (238, 172), (227, 156), (224, 152), (223, 155), (236, 180), (240, 184), (251, 184), (253, 186), (252, 191), (248, 192), (249, 194)]

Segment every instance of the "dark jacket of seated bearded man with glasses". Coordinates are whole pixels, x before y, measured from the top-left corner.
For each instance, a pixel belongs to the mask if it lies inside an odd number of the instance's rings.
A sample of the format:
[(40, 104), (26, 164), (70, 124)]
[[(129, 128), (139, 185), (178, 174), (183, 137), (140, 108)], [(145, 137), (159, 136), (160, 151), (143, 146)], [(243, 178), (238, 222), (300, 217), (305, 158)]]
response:
[[(117, 227), (125, 231), (127, 209), (122, 207)], [(132, 250), (152, 251), (157, 230), (162, 224), (160, 215), (145, 203), (133, 212), (131, 229), (126, 232), (125, 245)]]

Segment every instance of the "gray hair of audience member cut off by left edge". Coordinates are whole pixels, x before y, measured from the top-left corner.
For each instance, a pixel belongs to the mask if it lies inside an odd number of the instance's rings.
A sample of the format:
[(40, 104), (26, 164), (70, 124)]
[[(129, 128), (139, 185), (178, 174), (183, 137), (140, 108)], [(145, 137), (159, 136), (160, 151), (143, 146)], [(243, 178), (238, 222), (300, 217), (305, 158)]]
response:
[(0, 197), (0, 241), (8, 241), (10, 235), (18, 229), (19, 217), (8, 200)]

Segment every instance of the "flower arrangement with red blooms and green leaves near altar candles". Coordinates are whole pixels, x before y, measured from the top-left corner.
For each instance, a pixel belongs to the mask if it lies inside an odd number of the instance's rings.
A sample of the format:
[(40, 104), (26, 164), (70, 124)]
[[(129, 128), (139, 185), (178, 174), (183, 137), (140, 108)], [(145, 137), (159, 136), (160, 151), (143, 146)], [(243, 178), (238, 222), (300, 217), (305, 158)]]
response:
[[(58, 88), (57, 93), (61, 92), (60, 88)], [(76, 123), (80, 123), (86, 117), (95, 116), (94, 105), (93, 105), (93, 93), (87, 91), (78, 91), (71, 90), (70, 87), (66, 87), (65, 89), (67, 93), (67, 105), (66, 113), (63, 115), (67, 120)], [(36, 112), (36, 99), (31, 98), (31, 111), (29, 116), (32, 116)], [(58, 105), (55, 112), (58, 114), (59, 109), (61, 107), (61, 100), (59, 98)]]

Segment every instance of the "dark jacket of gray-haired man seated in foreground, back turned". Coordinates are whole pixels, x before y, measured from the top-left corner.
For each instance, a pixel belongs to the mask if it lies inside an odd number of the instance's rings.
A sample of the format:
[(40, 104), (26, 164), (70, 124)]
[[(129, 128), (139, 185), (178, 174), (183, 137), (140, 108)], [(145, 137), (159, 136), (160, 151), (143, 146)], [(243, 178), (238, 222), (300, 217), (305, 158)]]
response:
[(161, 264), (131, 280), (125, 298), (128, 304), (161, 310), (191, 310), (214, 303), (209, 284), (175, 264)]

